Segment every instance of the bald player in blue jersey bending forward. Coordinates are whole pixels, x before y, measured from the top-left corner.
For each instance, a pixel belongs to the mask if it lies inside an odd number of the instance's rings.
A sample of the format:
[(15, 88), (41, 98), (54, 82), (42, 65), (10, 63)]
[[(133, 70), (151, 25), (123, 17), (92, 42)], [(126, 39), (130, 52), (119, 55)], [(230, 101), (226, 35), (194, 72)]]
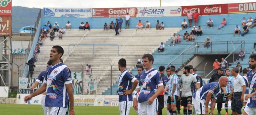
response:
[(208, 105), (211, 100), (211, 96), (214, 98), (211, 101), (211, 113), (213, 114), (213, 109), (215, 106), (215, 102), (221, 93), (221, 87), (226, 87), (228, 84), (228, 78), (225, 76), (220, 77), (219, 82), (211, 82), (202, 86), (196, 93), (193, 94), (192, 100), (194, 102), (194, 107), (196, 110), (196, 114), (207, 115), (208, 113)]

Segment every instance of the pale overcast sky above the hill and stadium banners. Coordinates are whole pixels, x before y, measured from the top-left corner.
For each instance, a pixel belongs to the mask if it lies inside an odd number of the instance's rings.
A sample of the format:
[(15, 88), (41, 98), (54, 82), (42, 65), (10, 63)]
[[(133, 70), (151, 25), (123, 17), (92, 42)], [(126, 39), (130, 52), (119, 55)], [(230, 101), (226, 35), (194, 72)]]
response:
[[(162, 7), (255, 2), (255, 0), (161, 0)], [(159, 7), (160, 0), (12, 0), (12, 6), (28, 8)]]

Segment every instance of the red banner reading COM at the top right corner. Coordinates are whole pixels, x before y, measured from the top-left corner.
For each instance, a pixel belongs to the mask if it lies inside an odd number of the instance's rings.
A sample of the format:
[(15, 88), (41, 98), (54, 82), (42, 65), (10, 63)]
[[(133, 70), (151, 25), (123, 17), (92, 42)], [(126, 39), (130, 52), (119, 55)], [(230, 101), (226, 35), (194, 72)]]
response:
[(256, 12), (256, 2), (228, 4), (228, 13), (248, 13), (248, 12)]

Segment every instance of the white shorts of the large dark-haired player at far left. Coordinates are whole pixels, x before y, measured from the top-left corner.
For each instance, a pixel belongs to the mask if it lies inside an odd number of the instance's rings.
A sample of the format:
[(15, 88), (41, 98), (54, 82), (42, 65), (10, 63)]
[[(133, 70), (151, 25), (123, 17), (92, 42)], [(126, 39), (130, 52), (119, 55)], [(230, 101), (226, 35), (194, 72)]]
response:
[(67, 108), (64, 107), (47, 107), (47, 115), (66, 115)]

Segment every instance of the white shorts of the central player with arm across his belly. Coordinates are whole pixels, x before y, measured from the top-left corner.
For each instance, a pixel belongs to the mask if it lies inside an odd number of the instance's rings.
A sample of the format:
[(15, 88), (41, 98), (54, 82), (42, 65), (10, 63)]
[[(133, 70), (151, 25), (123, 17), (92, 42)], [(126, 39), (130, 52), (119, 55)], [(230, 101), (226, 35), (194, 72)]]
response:
[(156, 115), (158, 109), (158, 100), (154, 99), (151, 105), (147, 105), (147, 101), (138, 104), (139, 115)]

